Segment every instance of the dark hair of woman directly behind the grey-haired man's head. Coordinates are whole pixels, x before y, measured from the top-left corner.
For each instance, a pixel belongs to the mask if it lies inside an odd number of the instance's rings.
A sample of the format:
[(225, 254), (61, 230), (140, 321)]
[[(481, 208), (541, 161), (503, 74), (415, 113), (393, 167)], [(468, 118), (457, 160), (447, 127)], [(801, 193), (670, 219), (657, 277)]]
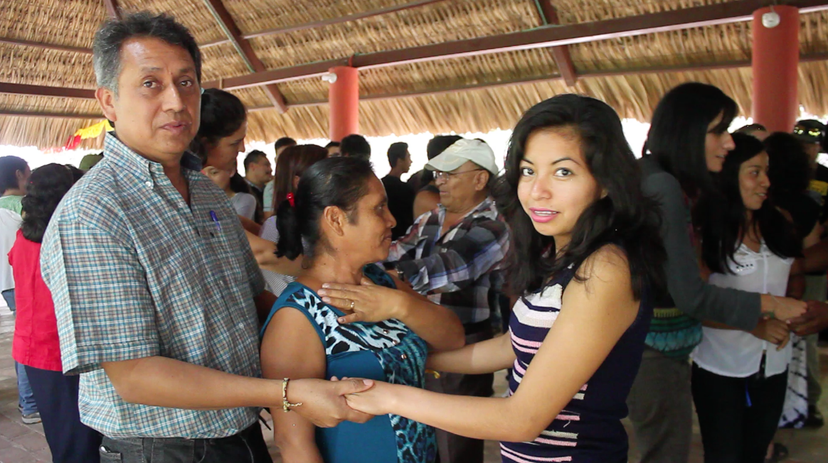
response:
[(233, 135), (247, 120), (248, 112), (236, 95), (219, 88), (205, 89), (201, 93), (201, 124), (190, 142), (190, 151), (199, 156), (202, 165), (207, 165), (209, 146)]

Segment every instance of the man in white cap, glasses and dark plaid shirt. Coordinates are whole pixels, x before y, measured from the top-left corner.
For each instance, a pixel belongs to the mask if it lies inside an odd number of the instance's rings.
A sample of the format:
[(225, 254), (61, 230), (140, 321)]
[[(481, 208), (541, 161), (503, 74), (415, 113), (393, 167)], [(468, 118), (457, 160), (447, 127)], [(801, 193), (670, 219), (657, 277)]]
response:
[[(391, 246), (386, 267), (431, 302), (460, 317), (466, 343), (492, 337), (502, 286), (500, 262), (509, 229), (489, 196), (498, 174), (494, 153), (483, 141), (459, 140), (429, 161), (440, 189), (440, 206), (426, 212)], [(442, 373), (426, 389), (489, 397), (493, 375)], [(440, 461), (482, 463), (483, 441), (437, 431)]]

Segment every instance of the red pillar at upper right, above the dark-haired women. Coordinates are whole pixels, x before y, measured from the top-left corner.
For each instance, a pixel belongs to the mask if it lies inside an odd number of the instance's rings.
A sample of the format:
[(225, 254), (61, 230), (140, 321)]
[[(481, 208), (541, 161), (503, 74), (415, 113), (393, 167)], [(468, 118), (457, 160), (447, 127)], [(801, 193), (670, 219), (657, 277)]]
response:
[(770, 7), (753, 12), (753, 122), (768, 131), (793, 129), (799, 115), (799, 10), (779, 5), (779, 24), (762, 24)]

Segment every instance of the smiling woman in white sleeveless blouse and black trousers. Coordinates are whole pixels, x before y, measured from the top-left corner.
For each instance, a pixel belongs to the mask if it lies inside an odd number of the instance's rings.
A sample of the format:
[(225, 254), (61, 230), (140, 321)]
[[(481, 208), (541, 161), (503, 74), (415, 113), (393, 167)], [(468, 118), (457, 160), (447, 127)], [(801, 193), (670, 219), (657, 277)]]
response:
[[(720, 196), (696, 209), (710, 284), (783, 297), (801, 238), (768, 201), (768, 154), (761, 141), (733, 136), (717, 179)], [(787, 388), (790, 331), (768, 318), (753, 332), (705, 322), (693, 351), (692, 392), (705, 462), (764, 461)]]

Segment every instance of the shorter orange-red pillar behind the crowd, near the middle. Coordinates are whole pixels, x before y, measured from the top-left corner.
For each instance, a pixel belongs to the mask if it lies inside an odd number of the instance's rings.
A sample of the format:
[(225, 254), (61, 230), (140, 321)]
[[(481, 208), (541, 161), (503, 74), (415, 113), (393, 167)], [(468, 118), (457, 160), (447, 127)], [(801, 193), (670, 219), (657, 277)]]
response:
[(331, 68), (336, 82), (330, 84), (330, 140), (341, 141), (359, 133), (359, 71), (350, 66)]

